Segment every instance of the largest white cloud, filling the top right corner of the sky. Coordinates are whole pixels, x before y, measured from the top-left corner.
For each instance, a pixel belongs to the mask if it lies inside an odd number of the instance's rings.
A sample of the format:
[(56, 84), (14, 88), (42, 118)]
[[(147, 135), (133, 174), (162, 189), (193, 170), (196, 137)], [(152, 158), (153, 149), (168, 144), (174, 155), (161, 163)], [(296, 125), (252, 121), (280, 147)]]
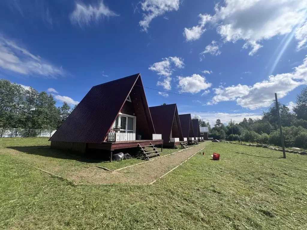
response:
[(299, 40), (297, 48), (301, 48), (307, 41), (306, 13), (307, 1), (302, 0), (224, 0), (216, 4), (210, 21), (225, 42), (244, 40), (243, 47), (251, 46), (249, 55), (254, 55), (262, 47), (260, 41), (289, 34), (293, 29)]

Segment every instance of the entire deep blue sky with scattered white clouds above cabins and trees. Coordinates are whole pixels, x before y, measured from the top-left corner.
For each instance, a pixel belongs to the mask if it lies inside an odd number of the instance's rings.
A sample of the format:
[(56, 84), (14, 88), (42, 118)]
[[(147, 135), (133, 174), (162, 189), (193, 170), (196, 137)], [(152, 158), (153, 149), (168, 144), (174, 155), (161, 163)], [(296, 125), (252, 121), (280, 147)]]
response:
[(0, 77), (74, 105), (140, 72), (150, 106), (241, 121), (306, 86), (306, 16), (301, 0), (7, 0)]

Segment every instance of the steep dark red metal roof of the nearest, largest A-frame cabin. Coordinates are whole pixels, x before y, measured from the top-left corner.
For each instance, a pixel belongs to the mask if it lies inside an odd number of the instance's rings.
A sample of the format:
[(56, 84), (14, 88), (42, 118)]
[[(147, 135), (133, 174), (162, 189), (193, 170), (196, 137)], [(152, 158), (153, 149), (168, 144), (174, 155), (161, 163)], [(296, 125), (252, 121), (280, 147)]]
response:
[(155, 133), (138, 73), (93, 86), (49, 140), (102, 143), (136, 82), (141, 86), (138, 93), (142, 97), (143, 117), (146, 117), (150, 131)]

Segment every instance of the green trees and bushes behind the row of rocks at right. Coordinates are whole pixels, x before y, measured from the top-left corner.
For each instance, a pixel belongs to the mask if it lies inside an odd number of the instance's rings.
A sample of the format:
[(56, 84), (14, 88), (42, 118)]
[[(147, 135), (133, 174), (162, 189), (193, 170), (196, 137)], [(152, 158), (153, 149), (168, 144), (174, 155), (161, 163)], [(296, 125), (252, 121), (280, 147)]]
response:
[[(281, 103), (278, 107), (285, 146), (307, 149), (307, 87), (297, 94), (293, 112)], [(220, 119), (217, 119), (212, 128), (208, 122), (201, 122), (201, 126), (208, 126), (208, 136), (217, 140), (233, 139), (281, 146), (275, 103), (267, 112), (263, 112), (261, 119), (244, 118), (239, 123), (232, 121), (233, 135), (231, 122), (224, 125)]]

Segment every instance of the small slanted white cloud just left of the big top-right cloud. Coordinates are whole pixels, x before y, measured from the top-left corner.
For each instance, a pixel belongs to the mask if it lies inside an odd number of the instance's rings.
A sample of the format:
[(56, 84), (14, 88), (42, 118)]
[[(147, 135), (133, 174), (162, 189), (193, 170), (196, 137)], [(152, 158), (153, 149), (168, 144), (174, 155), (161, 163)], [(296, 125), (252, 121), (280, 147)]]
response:
[(212, 19), (212, 17), (208, 14), (200, 14), (198, 15), (201, 19), (198, 22), (198, 25), (193, 26), (192, 28), (185, 28), (183, 35), (187, 41), (198, 40), (200, 36), (206, 31), (204, 26), (208, 21)]

